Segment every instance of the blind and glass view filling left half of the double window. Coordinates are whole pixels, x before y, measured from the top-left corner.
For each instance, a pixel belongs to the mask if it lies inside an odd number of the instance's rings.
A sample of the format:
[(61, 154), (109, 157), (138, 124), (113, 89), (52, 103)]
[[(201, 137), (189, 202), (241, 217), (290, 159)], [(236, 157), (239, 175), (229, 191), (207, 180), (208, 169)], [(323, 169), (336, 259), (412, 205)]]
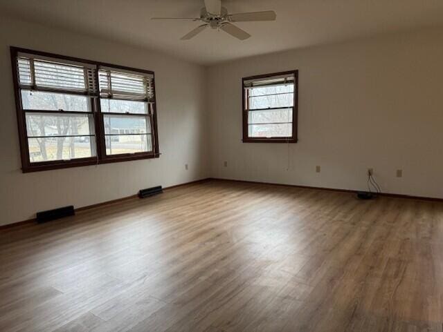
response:
[[(85, 90), (84, 70), (78, 66), (36, 60), (32, 61), (31, 67), (30, 61), (19, 61), (22, 65), (19, 66), (19, 79), (23, 78), (30, 86), (30, 90), (21, 90), (30, 162), (95, 156), (91, 99), (72, 94), (78, 89)], [(33, 90), (33, 82), (35, 86), (60, 92)]]

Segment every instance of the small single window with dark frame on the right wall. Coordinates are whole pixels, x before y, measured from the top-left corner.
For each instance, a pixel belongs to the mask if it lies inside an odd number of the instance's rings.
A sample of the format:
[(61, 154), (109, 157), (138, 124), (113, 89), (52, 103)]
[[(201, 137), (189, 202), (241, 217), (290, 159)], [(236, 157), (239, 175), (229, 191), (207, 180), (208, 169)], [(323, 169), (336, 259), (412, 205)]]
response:
[(243, 79), (243, 141), (297, 141), (297, 70)]

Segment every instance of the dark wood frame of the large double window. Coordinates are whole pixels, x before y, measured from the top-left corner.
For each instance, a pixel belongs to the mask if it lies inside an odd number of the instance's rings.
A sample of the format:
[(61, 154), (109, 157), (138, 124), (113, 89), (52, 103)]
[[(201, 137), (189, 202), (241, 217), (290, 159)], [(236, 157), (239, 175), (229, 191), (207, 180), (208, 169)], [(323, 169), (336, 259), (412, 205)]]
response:
[[(152, 91), (154, 95), (154, 99), (148, 104), (149, 113), (147, 117), (150, 118), (151, 128), (152, 128), (152, 151), (143, 152), (143, 153), (128, 153), (128, 154), (120, 154), (120, 155), (107, 155), (106, 147), (105, 147), (105, 127), (103, 123), (103, 114), (100, 110), (100, 93), (96, 96), (87, 95), (90, 97), (90, 104), (92, 107), (93, 113), (93, 121), (95, 127), (95, 136), (96, 136), (96, 157), (87, 157), (87, 158), (77, 158), (71, 160), (56, 160), (49, 162), (30, 162), (30, 155), (28, 149), (28, 139), (26, 132), (26, 117), (25, 112), (22, 108), (21, 104), (21, 88), (19, 87), (18, 81), (18, 66), (17, 66), (17, 55), (19, 53), (28, 53), (41, 57), (50, 57), (54, 59), (66, 60), (66, 61), (75, 61), (83, 64), (91, 64), (98, 67), (107, 67), (113, 68), (115, 70), (128, 70), (132, 72), (140, 72), (141, 74), (152, 75)], [(158, 135), (158, 124), (157, 124), (157, 112), (156, 112), (156, 94), (155, 94), (155, 79), (154, 72), (151, 70), (144, 70), (138, 68), (131, 68), (126, 66), (119, 66), (114, 64), (107, 64), (100, 61), (91, 61), (87, 59), (80, 59), (76, 57), (67, 57), (64, 55), (57, 55), (48, 52), (41, 52), (36, 50), (29, 50), (26, 48), (17, 48), (14, 46), (10, 47), (11, 61), (12, 61), (12, 80), (15, 88), (15, 104), (17, 110), (17, 125), (19, 132), (19, 144), (21, 151), (21, 170), (23, 173), (35, 172), (39, 170), (53, 170), (57, 168), (70, 168), (70, 167), (78, 167), (78, 166), (88, 166), (95, 164), (107, 164), (112, 162), (127, 162), (131, 160), (138, 159), (152, 159), (158, 158), (160, 156), (159, 152), (159, 135)], [(96, 70), (96, 84), (98, 84), (98, 70)], [(28, 112), (28, 110), (27, 110)], [(45, 111), (46, 112), (46, 111)], [(64, 114), (73, 114), (71, 111), (62, 111), (62, 110), (54, 110), (48, 111), (48, 113), (64, 113)], [(82, 114), (87, 114), (85, 112), (80, 112)], [(125, 115), (125, 113), (121, 113), (120, 115)]]

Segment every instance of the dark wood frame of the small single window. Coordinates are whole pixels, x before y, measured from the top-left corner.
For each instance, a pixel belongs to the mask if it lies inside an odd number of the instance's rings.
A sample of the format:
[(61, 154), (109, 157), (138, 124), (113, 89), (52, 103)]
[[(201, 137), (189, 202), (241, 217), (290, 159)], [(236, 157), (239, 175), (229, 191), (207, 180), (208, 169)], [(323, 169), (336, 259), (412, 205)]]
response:
[[(266, 79), (281, 75), (294, 76), (293, 89), (293, 111), (292, 111), (292, 136), (291, 137), (249, 137), (248, 135), (248, 89), (245, 88), (244, 82), (254, 79)], [(271, 74), (255, 75), (243, 77), (242, 79), (242, 121), (243, 121), (243, 142), (244, 143), (297, 143), (298, 128), (298, 70), (289, 70), (286, 72), (273, 72)]]

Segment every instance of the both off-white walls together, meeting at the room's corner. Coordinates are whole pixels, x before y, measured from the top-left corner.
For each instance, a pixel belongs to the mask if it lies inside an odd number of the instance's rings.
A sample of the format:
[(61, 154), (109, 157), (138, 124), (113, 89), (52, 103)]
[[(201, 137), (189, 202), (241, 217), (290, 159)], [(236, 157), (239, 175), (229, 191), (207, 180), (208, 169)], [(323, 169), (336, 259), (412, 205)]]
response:
[[(21, 173), (11, 45), (154, 70), (163, 155)], [(443, 198), (442, 59), (443, 30), (423, 30), (204, 68), (2, 19), (0, 225), (36, 211), (88, 206), (205, 177), (359, 190), (368, 167), (383, 191)], [(242, 77), (291, 69), (299, 70), (298, 144), (243, 144)], [(395, 177), (397, 169), (403, 177)]]

